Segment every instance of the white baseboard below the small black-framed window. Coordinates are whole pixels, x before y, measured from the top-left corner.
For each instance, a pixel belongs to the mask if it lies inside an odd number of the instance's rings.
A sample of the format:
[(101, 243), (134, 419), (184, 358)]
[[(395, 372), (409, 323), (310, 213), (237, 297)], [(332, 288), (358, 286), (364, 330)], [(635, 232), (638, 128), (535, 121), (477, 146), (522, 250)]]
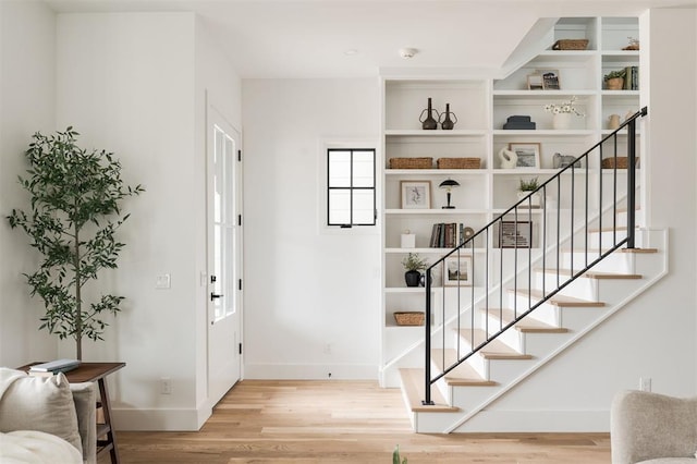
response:
[(245, 364), (244, 378), (256, 380), (378, 380), (378, 366), (370, 364)]

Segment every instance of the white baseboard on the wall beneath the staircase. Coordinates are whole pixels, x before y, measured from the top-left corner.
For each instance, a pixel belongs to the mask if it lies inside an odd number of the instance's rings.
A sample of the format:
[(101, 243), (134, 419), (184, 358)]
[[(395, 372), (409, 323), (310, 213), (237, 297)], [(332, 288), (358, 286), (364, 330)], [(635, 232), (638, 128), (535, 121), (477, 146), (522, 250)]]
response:
[(609, 432), (610, 411), (481, 411), (453, 432)]

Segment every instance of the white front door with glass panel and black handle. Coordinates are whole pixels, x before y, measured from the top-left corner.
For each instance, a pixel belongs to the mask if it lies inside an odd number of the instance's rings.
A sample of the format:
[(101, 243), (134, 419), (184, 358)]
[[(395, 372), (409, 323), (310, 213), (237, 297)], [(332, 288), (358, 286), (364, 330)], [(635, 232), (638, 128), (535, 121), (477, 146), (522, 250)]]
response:
[(242, 169), (240, 134), (208, 106), (208, 400), (241, 377)]

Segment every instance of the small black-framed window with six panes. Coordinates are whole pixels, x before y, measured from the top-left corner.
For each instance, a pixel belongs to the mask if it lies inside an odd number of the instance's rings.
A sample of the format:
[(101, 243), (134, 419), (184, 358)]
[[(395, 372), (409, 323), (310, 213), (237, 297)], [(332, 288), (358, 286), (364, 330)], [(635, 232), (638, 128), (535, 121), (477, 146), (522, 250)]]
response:
[(327, 224), (376, 224), (375, 149), (327, 150)]

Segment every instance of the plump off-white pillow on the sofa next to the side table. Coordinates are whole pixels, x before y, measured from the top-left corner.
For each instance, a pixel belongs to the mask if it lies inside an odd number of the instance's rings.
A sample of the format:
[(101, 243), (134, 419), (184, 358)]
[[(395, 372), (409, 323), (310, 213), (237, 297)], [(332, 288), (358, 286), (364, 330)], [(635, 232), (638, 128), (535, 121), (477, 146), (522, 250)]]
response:
[(33, 377), (14, 369), (0, 373), (12, 382), (0, 396), (0, 431), (38, 430), (54, 435), (82, 453), (73, 394), (63, 374)]

